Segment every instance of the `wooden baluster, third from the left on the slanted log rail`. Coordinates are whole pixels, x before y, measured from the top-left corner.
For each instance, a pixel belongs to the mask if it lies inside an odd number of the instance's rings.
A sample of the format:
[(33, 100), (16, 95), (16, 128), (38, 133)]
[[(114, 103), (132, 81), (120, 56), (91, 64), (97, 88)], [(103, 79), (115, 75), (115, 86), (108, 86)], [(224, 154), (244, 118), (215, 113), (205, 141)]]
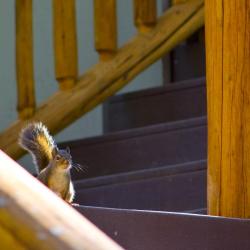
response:
[(94, 0), (95, 48), (100, 60), (109, 60), (117, 50), (116, 0)]

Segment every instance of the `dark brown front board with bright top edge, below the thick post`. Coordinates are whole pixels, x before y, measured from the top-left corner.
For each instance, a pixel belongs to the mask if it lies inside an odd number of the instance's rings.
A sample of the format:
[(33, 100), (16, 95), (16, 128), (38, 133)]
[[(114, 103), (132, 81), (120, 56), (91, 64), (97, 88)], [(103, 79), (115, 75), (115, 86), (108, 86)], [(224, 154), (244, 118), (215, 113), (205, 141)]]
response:
[(248, 250), (249, 219), (168, 212), (77, 207), (129, 250)]

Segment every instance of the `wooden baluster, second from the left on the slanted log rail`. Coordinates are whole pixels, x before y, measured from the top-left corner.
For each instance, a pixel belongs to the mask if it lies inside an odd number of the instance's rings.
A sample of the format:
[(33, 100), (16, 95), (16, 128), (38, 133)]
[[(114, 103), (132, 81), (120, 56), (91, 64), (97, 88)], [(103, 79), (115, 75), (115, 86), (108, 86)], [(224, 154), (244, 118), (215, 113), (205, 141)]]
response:
[(75, 0), (53, 0), (56, 79), (62, 90), (78, 77)]

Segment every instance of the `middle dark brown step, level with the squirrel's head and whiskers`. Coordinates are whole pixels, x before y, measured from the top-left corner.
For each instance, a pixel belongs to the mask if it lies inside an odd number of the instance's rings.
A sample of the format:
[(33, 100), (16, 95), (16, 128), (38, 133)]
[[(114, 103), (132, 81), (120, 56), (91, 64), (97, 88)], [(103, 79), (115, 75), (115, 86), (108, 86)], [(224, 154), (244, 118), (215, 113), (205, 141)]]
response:
[(88, 166), (82, 179), (206, 159), (206, 117), (152, 125), (61, 144)]

